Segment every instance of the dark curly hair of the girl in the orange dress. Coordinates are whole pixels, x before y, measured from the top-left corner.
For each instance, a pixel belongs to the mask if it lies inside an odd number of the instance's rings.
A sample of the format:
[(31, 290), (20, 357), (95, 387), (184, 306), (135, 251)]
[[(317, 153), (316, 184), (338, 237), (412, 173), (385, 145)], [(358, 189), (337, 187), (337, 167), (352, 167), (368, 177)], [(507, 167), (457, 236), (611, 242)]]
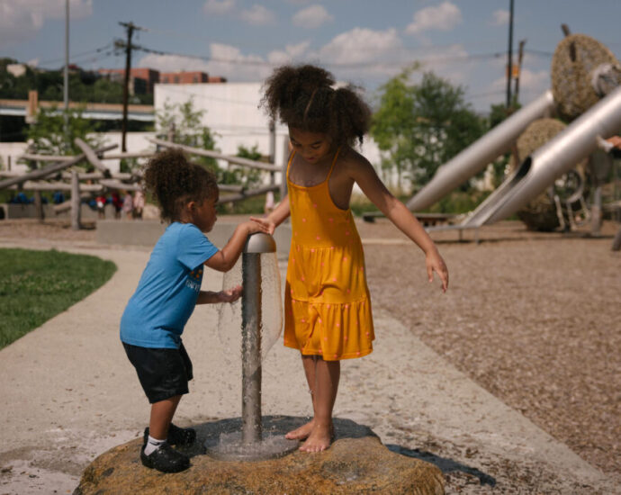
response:
[(371, 109), (355, 86), (334, 89), (334, 84), (334, 76), (321, 67), (278, 67), (266, 79), (261, 106), (275, 121), (328, 134), (338, 145), (351, 145), (356, 138), (362, 143)]

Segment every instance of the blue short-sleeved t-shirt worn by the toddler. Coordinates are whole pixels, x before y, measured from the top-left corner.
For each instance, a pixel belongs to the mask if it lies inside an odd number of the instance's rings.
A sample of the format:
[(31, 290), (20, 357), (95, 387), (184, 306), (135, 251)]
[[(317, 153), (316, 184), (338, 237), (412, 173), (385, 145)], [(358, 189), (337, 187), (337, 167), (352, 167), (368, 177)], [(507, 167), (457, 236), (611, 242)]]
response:
[(121, 318), (121, 341), (178, 348), (201, 291), (202, 264), (218, 252), (192, 223), (171, 223), (157, 240)]

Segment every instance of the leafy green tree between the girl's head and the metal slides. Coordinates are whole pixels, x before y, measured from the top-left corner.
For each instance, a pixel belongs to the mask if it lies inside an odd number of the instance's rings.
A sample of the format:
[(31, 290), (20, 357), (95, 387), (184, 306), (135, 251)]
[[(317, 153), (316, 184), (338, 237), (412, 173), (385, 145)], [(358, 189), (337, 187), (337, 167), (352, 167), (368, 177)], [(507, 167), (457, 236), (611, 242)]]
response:
[[(464, 102), (464, 89), (428, 72), (410, 83), (409, 67), (381, 87), (371, 135), (387, 152), (398, 186), (407, 178), (424, 185), (437, 168), (482, 136), (484, 126)], [(384, 166), (385, 166), (384, 162)]]

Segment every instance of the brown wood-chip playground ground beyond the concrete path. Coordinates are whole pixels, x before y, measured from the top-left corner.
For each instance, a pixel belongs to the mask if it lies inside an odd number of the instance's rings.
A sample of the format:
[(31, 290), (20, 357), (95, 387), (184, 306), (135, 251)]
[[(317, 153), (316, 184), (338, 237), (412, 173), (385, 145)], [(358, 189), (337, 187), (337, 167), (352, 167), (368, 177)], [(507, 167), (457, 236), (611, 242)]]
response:
[[(459, 240), (432, 232), (448, 293), (426, 282), (424, 257), (387, 220), (358, 222), (374, 307), (521, 411), (590, 464), (621, 480), (621, 252), (602, 237), (528, 232), (501, 222)], [(94, 229), (0, 221), (1, 238), (93, 243)], [(382, 338), (381, 335), (377, 338)]]

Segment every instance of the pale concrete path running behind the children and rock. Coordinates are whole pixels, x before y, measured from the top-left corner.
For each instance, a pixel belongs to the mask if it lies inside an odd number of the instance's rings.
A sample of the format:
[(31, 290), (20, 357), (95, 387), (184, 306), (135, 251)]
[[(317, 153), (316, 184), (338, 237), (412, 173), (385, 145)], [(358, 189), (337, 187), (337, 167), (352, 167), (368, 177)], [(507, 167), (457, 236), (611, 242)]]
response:
[[(95, 456), (138, 437), (148, 422), (148, 403), (118, 325), (149, 253), (87, 243), (0, 243), (18, 246), (57, 247), (118, 266), (98, 291), (0, 351), (0, 494), (70, 493)], [(284, 260), (280, 266), (284, 273)], [(205, 276), (204, 288), (220, 285), (220, 274)], [(343, 363), (336, 416), (373, 428), (394, 451), (439, 465), (449, 493), (621, 492), (382, 308), (374, 308), (374, 317), (374, 353)], [(194, 381), (178, 424), (240, 415), (238, 351), (222, 347), (217, 320), (215, 306), (198, 306), (185, 329)], [(299, 356), (276, 344), (264, 364), (263, 413), (310, 410)]]

